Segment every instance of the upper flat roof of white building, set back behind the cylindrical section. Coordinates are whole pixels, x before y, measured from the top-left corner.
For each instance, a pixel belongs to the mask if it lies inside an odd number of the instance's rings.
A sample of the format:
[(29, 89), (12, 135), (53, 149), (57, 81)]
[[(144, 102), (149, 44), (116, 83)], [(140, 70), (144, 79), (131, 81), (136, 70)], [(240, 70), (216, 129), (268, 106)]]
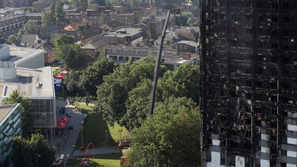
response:
[(43, 50), (10, 46), (10, 57), (2, 61), (20, 63), (28, 58), (35, 56), (38, 53), (43, 53)]

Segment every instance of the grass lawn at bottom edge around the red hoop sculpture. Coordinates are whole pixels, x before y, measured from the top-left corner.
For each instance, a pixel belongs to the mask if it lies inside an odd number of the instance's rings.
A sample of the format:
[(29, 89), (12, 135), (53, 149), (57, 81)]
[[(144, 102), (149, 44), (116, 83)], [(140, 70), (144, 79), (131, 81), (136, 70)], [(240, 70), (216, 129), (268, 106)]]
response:
[[(120, 166), (120, 157), (123, 155), (125, 155), (125, 153), (98, 154), (94, 156), (93, 164), (88, 166), (118, 167)], [(77, 167), (81, 163), (81, 158), (84, 158), (84, 156), (72, 157), (68, 160), (66, 167)]]

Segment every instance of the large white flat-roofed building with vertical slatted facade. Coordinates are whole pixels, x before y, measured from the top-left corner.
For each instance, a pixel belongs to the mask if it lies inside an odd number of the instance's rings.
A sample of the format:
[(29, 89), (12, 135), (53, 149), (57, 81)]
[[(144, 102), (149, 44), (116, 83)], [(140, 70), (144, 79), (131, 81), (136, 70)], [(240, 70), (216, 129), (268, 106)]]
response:
[(9, 60), (0, 61), (1, 103), (13, 90), (28, 97), (32, 101), (35, 129), (44, 130), (45, 137), (53, 139), (57, 121), (52, 67), (44, 67), (42, 50), (10, 48), (9, 53), (8, 45), (0, 45), (0, 59)]

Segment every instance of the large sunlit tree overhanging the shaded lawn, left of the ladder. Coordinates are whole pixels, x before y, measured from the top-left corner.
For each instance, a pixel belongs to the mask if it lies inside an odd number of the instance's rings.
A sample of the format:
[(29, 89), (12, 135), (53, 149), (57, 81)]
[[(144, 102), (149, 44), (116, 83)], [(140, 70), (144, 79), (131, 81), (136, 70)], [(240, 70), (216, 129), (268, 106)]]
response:
[[(156, 58), (148, 56), (135, 62), (128, 62), (116, 68), (113, 73), (104, 76), (104, 83), (98, 87), (96, 112), (103, 113), (109, 124), (122, 124), (122, 117), (126, 114), (125, 101), (128, 92), (137, 86), (144, 78), (152, 80)], [(161, 66), (159, 77), (167, 70)]]

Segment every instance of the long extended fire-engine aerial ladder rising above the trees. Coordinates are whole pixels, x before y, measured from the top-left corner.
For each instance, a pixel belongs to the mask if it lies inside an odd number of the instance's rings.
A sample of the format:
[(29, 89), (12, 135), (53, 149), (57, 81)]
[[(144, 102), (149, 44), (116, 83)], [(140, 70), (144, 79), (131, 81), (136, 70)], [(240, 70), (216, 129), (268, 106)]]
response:
[(161, 64), (161, 56), (162, 56), (162, 49), (163, 49), (163, 43), (164, 43), (164, 38), (166, 35), (166, 29), (167, 29), (167, 24), (170, 18), (170, 14), (176, 15), (180, 13), (180, 9), (171, 9), (167, 13), (167, 17), (165, 20), (163, 32), (161, 34), (161, 44), (159, 48), (159, 56), (157, 58), (156, 64), (155, 64), (155, 69), (154, 69), (154, 79), (153, 79), (153, 85), (152, 85), (152, 92), (150, 96), (150, 101), (149, 101), (149, 116), (154, 113), (154, 105), (155, 105), (155, 98), (156, 98), (156, 89), (157, 89), (157, 82), (158, 82), (158, 77), (159, 77), (159, 70), (160, 70), (160, 64)]

